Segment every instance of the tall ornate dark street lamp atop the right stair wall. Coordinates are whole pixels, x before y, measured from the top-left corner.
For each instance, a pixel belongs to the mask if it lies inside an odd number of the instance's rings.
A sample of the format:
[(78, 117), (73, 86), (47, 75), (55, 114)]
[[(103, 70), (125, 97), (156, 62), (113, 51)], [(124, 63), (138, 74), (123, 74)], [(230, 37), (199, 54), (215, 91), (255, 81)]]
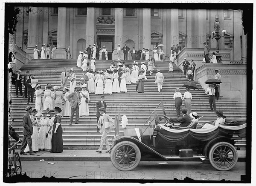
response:
[(221, 59), (221, 55), (218, 53), (219, 52), (219, 45), (218, 45), (218, 40), (221, 38), (221, 37), (224, 37), (224, 34), (226, 33), (226, 30), (222, 30), (222, 34), (220, 34), (220, 28), (221, 28), (221, 24), (218, 20), (218, 14), (215, 15), (215, 22), (214, 22), (214, 30), (212, 32), (212, 39), (215, 38), (215, 40), (217, 41), (217, 45), (216, 45), (216, 59), (217, 59), (217, 62), (218, 63), (222, 63), (222, 59)]

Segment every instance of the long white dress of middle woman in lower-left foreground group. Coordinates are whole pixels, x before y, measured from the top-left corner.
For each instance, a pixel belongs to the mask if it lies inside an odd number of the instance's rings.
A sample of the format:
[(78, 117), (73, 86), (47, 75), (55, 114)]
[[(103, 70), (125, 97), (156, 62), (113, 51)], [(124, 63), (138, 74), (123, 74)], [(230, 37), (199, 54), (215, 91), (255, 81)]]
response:
[(46, 149), (46, 142), (47, 142), (47, 137), (46, 133), (48, 131), (48, 125), (49, 125), (50, 119), (48, 117), (44, 118), (41, 117), (39, 121), (40, 129), (38, 132), (38, 149)]

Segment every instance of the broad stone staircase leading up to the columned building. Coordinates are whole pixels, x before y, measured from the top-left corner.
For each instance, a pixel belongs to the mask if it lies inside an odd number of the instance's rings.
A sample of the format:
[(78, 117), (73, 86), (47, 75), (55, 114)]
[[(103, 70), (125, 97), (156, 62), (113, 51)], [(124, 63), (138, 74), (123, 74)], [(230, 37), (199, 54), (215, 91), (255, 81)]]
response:
[[(111, 60), (96, 60), (96, 70), (108, 69), (111, 66)], [(137, 61), (139, 63), (142, 61)], [(39, 84), (44, 88), (47, 83), (52, 86), (60, 86), (60, 74), (63, 68), (74, 69), (76, 73), (76, 81), (82, 74), (82, 69), (76, 67), (77, 60), (41, 60), (33, 59), (26, 65), (20, 68), (21, 75), (24, 77), (26, 70), (34, 74), (35, 79), (38, 79)], [(130, 65), (133, 61), (125, 61), (125, 64)], [(175, 100), (173, 94), (175, 88), (179, 87), (180, 92), (186, 92), (185, 87), (182, 87), (188, 80), (183, 72), (173, 63), (173, 73), (167, 73), (169, 61), (156, 62), (155, 66), (160, 69), (164, 74), (165, 83), (163, 84), (163, 91), (158, 93), (157, 84), (154, 84), (153, 75), (147, 75), (148, 80), (145, 82), (145, 93), (139, 94), (135, 92), (136, 84), (127, 85), (126, 93), (113, 93), (112, 95), (105, 95), (105, 101), (108, 105), (106, 112), (114, 119), (115, 114), (120, 112), (121, 116), (126, 115), (128, 118), (128, 128), (142, 127), (149, 115), (154, 111), (156, 106), (163, 100), (166, 113), (169, 117), (176, 117)], [(206, 121), (213, 121), (216, 118), (215, 113), (209, 112), (208, 96), (204, 93), (204, 89), (198, 82), (199, 90), (191, 90), (192, 93), (192, 112), (197, 112), (200, 116), (204, 117), (200, 123)], [(69, 86), (69, 85), (68, 85)], [(61, 87), (62, 90), (62, 87)], [(25, 114), (25, 108), (28, 106), (27, 100), (23, 97), (16, 97), (15, 86), (12, 86), (12, 112), (10, 120), (12, 121), (15, 131), (22, 135), (22, 117)], [(23, 90), (24, 91), (24, 90)], [(63, 128), (63, 143), (64, 149), (97, 149), (100, 143), (101, 134), (96, 132), (96, 102), (100, 100), (100, 95), (90, 93), (89, 112), (90, 116), (79, 118), (80, 125), (69, 125), (69, 117), (62, 117), (61, 126)], [(35, 101), (35, 96), (34, 96)], [(184, 104), (184, 103), (183, 103)], [(35, 104), (29, 104), (35, 107)], [(183, 105), (184, 106), (184, 105)], [(239, 103), (237, 100), (232, 100), (227, 97), (220, 97), (216, 100), (216, 108), (222, 110), (227, 118), (245, 119), (246, 118), (246, 103)], [(161, 109), (156, 110), (157, 114), (163, 117)], [(145, 125), (147, 126), (147, 125)], [(144, 127), (145, 127), (144, 126)], [(123, 129), (120, 125), (120, 135), (123, 134)], [(114, 137), (113, 132), (109, 134), (109, 138)], [(246, 140), (238, 140), (241, 148), (245, 148)]]

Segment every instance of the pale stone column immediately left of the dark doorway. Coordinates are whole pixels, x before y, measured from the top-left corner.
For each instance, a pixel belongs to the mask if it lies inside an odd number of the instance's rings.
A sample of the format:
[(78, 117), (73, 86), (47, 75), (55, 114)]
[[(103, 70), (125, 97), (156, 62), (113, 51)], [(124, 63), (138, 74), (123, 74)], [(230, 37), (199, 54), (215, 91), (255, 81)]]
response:
[(96, 44), (96, 20), (95, 20), (95, 8), (87, 7), (86, 15), (86, 46)]

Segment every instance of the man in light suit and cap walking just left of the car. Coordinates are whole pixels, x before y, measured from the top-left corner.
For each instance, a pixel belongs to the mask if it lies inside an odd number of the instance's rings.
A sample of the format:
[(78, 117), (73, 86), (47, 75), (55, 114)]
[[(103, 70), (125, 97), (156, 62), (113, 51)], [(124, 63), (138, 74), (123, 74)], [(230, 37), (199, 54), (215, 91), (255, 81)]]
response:
[(100, 138), (100, 146), (99, 149), (96, 151), (99, 153), (102, 153), (104, 143), (107, 148), (106, 153), (110, 151), (110, 146), (108, 143), (108, 133), (111, 132), (111, 127), (114, 126), (114, 120), (108, 114), (105, 114), (104, 111), (104, 107), (99, 108), (99, 113), (101, 114), (101, 116), (99, 117), (97, 126), (100, 129), (100, 132), (102, 133), (102, 137)]

